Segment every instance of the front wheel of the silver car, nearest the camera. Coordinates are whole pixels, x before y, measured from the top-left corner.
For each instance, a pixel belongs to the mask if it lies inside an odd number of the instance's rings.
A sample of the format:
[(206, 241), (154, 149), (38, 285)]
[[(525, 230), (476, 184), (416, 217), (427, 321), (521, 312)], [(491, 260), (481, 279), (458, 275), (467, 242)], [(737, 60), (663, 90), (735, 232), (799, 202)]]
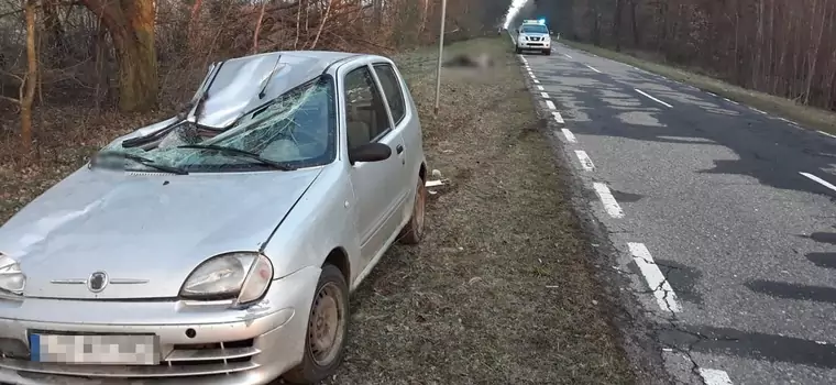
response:
[[(333, 336), (329, 337), (330, 333)], [(287, 383), (301, 385), (316, 384), (333, 375), (342, 363), (348, 338), (349, 286), (337, 266), (326, 264), (310, 305), (305, 332), (305, 355), (296, 367), (282, 377)], [(321, 343), (330, 346), (321, 351)]]

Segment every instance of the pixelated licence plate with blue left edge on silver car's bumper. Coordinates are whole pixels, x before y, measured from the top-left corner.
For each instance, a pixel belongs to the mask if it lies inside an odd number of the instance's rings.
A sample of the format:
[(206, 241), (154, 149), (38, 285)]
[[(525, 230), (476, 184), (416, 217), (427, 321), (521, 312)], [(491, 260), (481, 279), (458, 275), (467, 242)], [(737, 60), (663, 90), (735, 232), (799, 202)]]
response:
[(158, 340), (154, 334), (79, 336), (30, 334), (32, 361), (66, 364), (156, 365)]

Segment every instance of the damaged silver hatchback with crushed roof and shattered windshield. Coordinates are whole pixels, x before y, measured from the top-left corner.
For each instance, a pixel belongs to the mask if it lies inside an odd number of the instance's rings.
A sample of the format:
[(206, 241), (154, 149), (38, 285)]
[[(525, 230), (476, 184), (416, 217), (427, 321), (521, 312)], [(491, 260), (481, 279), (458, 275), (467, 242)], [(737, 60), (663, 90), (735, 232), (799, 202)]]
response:
[(0, 382), (315, 383), (351, 290), (424, 232), (421, 127), (381, 56), (215, 64), (0, 228)]

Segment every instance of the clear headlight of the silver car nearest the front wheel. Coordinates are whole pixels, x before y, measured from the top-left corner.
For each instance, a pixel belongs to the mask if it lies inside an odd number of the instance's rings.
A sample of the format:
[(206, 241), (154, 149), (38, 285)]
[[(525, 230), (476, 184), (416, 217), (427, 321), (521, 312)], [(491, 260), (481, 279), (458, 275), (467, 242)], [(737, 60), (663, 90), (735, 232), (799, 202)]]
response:
[(195, 268), (180, 288), (188, 299), (232, 299), (239, 304), (261, 298), (273, 279), (273, 264), (258, 253), (211, 257)]

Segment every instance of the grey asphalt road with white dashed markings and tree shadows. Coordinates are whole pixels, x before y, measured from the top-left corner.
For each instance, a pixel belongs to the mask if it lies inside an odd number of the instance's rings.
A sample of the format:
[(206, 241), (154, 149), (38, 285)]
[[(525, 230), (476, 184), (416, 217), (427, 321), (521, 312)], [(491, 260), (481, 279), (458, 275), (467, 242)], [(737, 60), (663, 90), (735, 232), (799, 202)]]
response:
[(520, 66), (666, 370), (836, 384), (836, 139), (562, 44)]

